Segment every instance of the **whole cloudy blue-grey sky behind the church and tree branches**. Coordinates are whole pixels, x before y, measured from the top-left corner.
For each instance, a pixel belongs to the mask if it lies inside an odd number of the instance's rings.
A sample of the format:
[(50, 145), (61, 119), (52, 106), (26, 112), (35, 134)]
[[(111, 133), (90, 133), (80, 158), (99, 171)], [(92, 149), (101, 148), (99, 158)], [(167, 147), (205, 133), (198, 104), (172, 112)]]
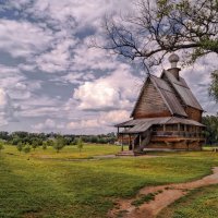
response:
[[(105, 14), (131, 9), (131, 0), (0, 0), (0, 130), (98, 134), (129, 119), (145, 73), (88, 41)], [(181, 71), (208, 113), (218, 110), (207, 93), (214, 69), (209, 56)]]

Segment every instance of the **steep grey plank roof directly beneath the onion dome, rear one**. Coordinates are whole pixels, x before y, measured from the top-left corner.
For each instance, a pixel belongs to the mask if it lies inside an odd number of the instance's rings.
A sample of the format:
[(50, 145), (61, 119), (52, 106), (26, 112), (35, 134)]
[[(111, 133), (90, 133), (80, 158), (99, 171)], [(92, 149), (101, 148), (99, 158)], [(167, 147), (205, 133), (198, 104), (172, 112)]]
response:
[(192, 90), (190, 89), (190, 87), (187, 86), (183, 77), (180, 76), (180, 80), (177, 80), (169, 71), (166, 71), (166, 70), (162, 72), (160, 77), (162, 78), (164, 75), (167, 76), (170, 84), (177, 90), (177, 93), (181, 97), (184, 105), (203, 111), (202, 106), (199, 105), (195, 96), (193, 95)]

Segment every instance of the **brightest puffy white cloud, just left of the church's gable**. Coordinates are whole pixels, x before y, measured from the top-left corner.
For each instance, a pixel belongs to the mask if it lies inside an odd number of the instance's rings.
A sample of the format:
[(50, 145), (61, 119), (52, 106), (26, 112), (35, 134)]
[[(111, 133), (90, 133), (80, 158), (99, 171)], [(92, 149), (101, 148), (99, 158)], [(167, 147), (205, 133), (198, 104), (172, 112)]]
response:
[(75, 89), (73, 97), (80, 101), (80, 109), (130, 108), (142, 82), (130, 73), (125, 64), (118, 65), (108, 76), (93, 82), (85, 82)]

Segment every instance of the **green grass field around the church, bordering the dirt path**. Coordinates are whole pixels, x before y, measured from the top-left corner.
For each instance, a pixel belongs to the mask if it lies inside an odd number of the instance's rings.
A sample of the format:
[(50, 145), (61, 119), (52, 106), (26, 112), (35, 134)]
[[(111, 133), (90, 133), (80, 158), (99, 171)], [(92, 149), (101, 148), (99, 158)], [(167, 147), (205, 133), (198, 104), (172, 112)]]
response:
[[(131, 197), (145, 185), (195, 180), (218, 166), (218, 154), (211, 152), (162, 153), (155, 154), (160, 155), (156, 158), (92, 158), (118, 150), (118, 146), (86, 145), (82, 154), (72, 146), (59, 154), (52, 148), (20, 154), (15, 147), (5, 146), (0, 154), (0, 217), (104, 218), (118, 197)], [(216, 187), (207, 189), (193, 193), (196, 199), (187, 203), (190, 211), (195, 204), (201, 208), (210, 196), (218, 211), (211, 191)], [(198, 195), (203, 196), (202, 202)], [(177, 213), (184, 203), (172, 205), (168, 213), (174, 216), (175, 210), (174, 217), (190, 217), (189, 211), (185, 216)]]

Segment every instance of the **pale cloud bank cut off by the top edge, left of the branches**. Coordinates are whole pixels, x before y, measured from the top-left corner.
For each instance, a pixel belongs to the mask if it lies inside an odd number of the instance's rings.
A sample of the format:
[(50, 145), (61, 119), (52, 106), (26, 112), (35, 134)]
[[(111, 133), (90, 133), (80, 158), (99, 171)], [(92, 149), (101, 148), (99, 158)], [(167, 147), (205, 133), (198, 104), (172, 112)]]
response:
[[(36, 17), (47, 17), (53, 23), (72, 25), (78, 23), (80, 27), (98, 25), (99, 20), (106, 13), (130, 10), (132, 0), (36, 0), (28, 9), (28, 13)], [(70, 23), (70, 22), (71, 23)]]

